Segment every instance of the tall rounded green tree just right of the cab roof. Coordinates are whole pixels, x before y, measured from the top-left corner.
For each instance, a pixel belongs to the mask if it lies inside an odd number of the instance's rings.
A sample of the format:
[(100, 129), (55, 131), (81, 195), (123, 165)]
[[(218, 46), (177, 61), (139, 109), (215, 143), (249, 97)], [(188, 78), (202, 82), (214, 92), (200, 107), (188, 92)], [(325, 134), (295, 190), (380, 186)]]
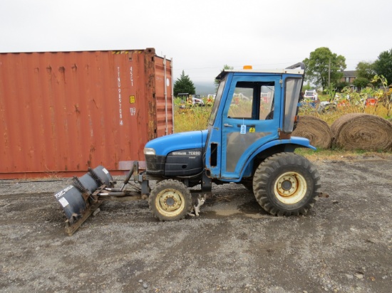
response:
[(342, 71), (346, 69), (346, 58), (332, 53), (326, 47), (317, 48), (303, 62), (306, 68), (306, 80), (324, 89), (328, 87), (329, 77), (330, 83), (336, 84), (343, 77)]

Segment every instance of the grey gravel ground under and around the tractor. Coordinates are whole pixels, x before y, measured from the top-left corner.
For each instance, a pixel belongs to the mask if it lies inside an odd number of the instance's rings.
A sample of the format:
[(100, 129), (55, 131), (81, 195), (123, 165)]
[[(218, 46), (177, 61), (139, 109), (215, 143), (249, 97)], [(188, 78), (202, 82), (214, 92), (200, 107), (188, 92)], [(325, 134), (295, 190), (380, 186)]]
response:
[(314, 164), (306, 216), (268, 215), (230, 183), (200, 217), (107, 201), (71, 237), (53, 197), (70, 179), (0, 181), (0, 292), (391, 292), (391, 156)]

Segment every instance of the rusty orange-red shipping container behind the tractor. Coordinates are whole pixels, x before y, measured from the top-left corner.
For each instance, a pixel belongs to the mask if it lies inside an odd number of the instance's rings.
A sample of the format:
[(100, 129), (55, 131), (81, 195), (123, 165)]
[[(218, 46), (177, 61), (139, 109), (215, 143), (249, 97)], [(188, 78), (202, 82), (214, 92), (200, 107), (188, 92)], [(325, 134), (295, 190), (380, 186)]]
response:
[(171, 81), (153, 48), (0, 53), (0, 179), (123, 174), (172, 133)]

